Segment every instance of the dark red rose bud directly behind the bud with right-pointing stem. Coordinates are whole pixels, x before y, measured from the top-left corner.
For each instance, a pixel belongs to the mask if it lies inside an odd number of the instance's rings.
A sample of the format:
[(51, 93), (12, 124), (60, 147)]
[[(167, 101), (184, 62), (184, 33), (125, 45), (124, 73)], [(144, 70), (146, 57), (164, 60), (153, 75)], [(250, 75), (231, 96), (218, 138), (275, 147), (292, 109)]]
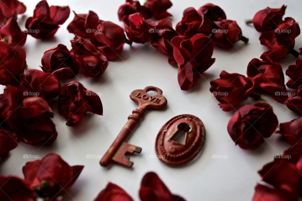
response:
[(212, 3), (206, 3), (198, 9), (198, 12), (203, 14), (204, 17), (210, 22), (218, 21), (218, 19), (226, 19), (226, 14), (219, 7)]

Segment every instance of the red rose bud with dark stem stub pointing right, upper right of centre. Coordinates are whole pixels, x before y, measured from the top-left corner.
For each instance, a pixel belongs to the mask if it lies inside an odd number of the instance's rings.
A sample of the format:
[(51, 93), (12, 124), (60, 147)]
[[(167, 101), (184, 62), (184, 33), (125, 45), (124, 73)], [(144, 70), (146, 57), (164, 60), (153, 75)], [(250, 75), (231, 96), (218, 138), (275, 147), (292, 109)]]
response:
[(225, 48), (232, 48), (237, 41), (249, 42), (242, 35), (242, 31), (236, 21), (223, 19), (215, 21), (216, 28), (212, 29), (213, 43)]

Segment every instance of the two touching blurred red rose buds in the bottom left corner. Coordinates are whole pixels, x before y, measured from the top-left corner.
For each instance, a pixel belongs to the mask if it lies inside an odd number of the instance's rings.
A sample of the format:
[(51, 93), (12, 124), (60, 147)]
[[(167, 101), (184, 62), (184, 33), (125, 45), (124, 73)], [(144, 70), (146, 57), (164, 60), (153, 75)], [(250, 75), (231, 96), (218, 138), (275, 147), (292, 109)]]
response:
[(23, 166), (24, 179), (0, 177), (0, 199), (8, 200), (59, 200), (79, 177), (84, 166), (70, 166), (59, 155), (50, 153), (41, 160)]

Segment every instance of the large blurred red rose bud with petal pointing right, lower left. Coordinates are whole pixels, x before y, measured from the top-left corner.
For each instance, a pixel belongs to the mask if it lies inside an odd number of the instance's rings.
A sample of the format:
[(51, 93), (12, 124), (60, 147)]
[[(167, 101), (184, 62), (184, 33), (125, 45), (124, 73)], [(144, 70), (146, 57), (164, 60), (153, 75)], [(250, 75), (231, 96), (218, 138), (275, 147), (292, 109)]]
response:
[(40, 198), (55, 198), (70, 188), (84, 166), (70, 166), (59, 155), (51, 153), (41, 160), (23, 166), (24, 180)]

